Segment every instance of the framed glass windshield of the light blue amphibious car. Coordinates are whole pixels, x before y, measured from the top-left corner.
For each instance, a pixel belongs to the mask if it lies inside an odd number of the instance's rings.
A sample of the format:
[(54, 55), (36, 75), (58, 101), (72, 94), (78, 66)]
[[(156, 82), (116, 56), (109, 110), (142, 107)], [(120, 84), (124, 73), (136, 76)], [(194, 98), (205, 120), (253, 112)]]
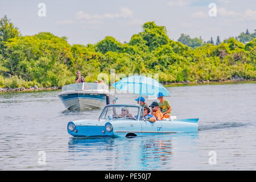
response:
[(137, 120), (139, 107), (137, 106), (106, 106), (100, 119), (131, 119)]

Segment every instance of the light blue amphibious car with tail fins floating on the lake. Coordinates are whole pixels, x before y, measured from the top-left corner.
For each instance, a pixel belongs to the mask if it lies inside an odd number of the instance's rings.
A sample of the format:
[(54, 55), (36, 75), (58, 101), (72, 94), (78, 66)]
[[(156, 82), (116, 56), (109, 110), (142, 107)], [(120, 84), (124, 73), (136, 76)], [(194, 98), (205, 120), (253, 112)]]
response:
[[(138, 117), (141, 115), (141, 117)], [(98, 119), (81, 119), (68, 123), (73, 137), (136, 137), (152, 134), (197, 132), (199, 119), (147, 121), (143, 107), (106, 105)]]

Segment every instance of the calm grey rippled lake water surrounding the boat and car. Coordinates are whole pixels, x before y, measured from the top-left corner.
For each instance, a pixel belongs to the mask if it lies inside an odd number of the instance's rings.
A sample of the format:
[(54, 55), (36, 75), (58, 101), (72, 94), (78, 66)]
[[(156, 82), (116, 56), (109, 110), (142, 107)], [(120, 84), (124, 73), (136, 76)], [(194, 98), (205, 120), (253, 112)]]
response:
[[(198, 133), (73, 138), (69, 121), (101, 111), (65, 111), (59, 91), (1, 93), (0, 170), (256, 169), (256, 84), (167, 89), (172, 115), (200, 118)], [(119, 94), (117, 104), (136, 97)]]

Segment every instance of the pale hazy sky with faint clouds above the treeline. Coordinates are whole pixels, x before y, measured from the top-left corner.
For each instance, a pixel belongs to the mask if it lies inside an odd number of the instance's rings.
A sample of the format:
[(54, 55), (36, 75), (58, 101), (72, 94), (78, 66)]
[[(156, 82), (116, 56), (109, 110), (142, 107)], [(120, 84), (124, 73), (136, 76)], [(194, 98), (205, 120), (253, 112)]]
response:
[(182, 33), (207, 42), (256, 29), (255, 0), (0, 0), (0, 18), (4, 15), (22, 35), (51, 32), (84, 45), (106, 36), (129, 42), (149, 21), (165, 26), (175, 41)]

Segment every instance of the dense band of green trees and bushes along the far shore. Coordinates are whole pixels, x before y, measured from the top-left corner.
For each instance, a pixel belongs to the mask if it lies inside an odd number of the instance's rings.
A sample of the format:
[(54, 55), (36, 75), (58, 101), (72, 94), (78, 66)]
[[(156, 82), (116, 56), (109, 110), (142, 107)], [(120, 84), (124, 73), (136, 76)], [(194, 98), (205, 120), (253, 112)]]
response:
[[(96, 44), (69, 44), (50, 32), (23, 36), (5, 15), (0, 19), (0, 92), (57, 90), (73, 84), (80, 70), (85, 82), (109, 85), (129, 76), (158, 74), (164, 86), (214, 84), (256, 80), (256, 30), (216, 43), (181, 34), (178, 41), (167, 29), (146, 22), (129, 42), (106, 36)], [(100, 75), (109, 75), (103, 79)]]

